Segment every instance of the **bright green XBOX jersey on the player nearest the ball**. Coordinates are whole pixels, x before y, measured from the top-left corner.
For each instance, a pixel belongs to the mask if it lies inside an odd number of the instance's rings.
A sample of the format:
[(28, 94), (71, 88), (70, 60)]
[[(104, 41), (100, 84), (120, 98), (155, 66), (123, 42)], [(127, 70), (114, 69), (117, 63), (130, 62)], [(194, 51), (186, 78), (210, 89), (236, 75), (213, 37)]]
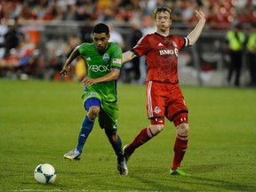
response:
[[(79, 45), (78, 51), (84, 57), (87, 65), (87, 76), (98, 78), (110, 73), (111, 68), (120, 69), (122, 66), (122, 49), (119, 44), (109, 43), (108, 49), (100, 53), (94, 43), (84, 43)], [(116, 81), (92, 84), (85, 87), (85, 91), (98, 92), (101, 100), (115, 102), (117, 100)]]

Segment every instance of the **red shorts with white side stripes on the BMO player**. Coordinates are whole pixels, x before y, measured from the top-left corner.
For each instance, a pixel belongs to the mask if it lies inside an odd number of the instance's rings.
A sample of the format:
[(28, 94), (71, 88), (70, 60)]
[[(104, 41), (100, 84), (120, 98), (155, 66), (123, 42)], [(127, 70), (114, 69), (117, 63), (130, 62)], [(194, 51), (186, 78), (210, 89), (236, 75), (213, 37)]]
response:
[(146, 84), (146, 107), (148, 118), (163, 118), (170, 121), (180, 113), (188, 113), (184, 97), (178, 84), (148, 81)]

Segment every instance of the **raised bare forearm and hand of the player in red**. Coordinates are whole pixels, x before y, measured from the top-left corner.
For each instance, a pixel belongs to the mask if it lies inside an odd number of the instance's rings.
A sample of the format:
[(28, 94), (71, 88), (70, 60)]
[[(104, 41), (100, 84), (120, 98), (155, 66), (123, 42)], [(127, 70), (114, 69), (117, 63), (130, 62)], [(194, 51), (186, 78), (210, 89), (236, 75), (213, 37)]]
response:
[(187, 36), (187, 38), (189, 40), (188, 45), (195, 44), (198, 37), (201, 35), (201, 33), (204, 29), (204, 24), (205, 24), (204, 12), (196, 10), (196, 17), (198, 18), (198, 22), (196, 24), (196, 27)]

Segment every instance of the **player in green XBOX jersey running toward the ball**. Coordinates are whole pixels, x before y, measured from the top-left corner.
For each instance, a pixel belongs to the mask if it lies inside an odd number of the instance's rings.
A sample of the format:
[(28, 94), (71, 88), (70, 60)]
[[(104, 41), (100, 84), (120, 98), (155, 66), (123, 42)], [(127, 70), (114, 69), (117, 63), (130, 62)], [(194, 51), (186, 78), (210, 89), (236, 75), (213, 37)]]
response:
[(120, 175), (127, 175), (122, 141), (116, 134), (118, 122), (118, 106), (116, 98), (116, 80), (122, 66), (122, 50), (116, 43), (109, 43), (108, 26), (100, 23), (92, 29), (93, 43), (78, 45), (66, 60), (60, 71), (61, 76), (68, 76), (70, 64), (82, 55), (86, 61), (87, 76), (82, 81), (85, 85), (82, 99), (87, 115), (81, 125), (78, 144), (75, 149), (64, 155), (69, 160), (79, 160), (84, 143), (92, 132), (95, 118), (105, 130), (108, 140), (117, 156), (117, 170)]

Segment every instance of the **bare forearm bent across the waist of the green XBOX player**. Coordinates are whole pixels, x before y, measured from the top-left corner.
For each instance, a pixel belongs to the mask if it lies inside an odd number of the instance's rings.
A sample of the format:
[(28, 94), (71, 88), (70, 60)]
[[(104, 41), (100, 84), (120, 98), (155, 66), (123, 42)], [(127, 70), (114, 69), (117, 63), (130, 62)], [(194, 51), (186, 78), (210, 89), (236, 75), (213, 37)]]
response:
[(110, 81), (116, 81), (120, 76), (120, 69), (119, 68), (111, 68), (110, 73), (108, 73), (105, 76), (100, 76), (99, 78), (90, 78), (90, 77), (85, 77), (82, 81), (82, 83), (85, 86), (90, 86), (92, 84), (99, 84), (103, 82), (110, 82)]

